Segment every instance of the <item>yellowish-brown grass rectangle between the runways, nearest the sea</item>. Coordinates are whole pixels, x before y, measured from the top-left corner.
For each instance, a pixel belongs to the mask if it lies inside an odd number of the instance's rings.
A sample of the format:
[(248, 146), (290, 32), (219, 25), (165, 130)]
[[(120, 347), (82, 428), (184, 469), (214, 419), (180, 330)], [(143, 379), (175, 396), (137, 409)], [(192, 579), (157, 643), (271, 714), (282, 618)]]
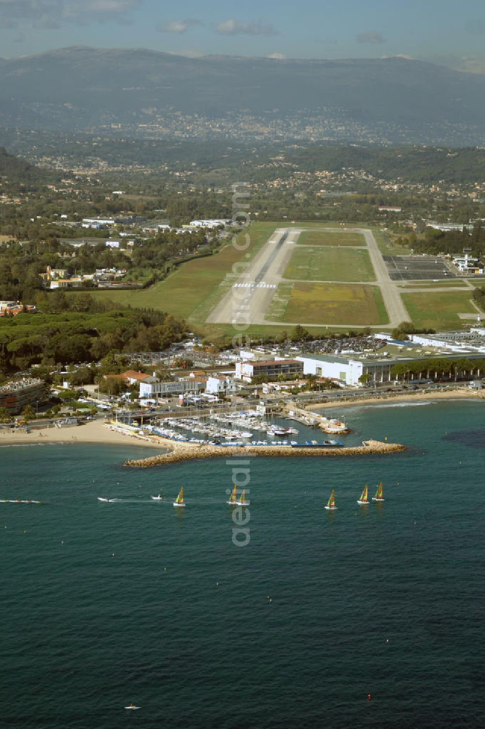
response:
[(341, 327), (377, 326), (389, 321), (377, 286), (303, 282), (280, 284), (265, 318)]

